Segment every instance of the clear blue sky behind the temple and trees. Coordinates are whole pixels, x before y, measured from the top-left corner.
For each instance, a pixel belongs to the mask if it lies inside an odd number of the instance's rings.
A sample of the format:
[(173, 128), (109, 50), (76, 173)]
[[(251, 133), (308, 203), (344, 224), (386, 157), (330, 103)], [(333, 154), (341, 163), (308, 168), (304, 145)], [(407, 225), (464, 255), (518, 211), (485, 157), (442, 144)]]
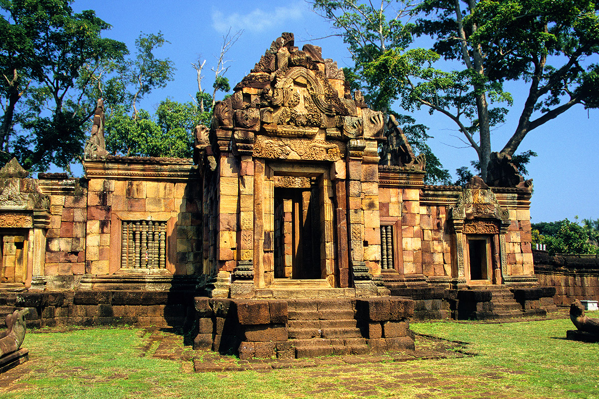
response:
[[(141, 102), (141, 108), (152, 112), (165, 98), (186, 102), (197, 90), (196, 72), (190, 63), (198, 56), (205, 59), (202, 87), (211, 93), (217, 56), (222, 36), (244, 29), (237, 43), (227, 54), (229, 70), (226, 77), (233, 87), (253, 68), (271, 42), (281, 32), (294, 32), (298, 47), (307, 42), (322, 47), (322, 55), (337, 61), (340, 67), (351, 66), (350, 54), (338, 37), (319, 39), (334, 33), (327, 22), (314, 14), (304, 1), (192, 1), (177, 0), (76, 0), (75, 11), (95, 10), (96, 15), (113, 25), (104, 36), (125, 42), (134, 51), (134, 42), (141, 32), (161, 31), (170, 44), (157, 55), (169, 57), (175, 63), (175, 80), (164, 89), (155, 90)], [(595, 60), (599, 62), (599, 58)], [(510, 84), (515, 98), (507, 123), (492, 132), (492, 150), (499, 151), (512, 135), (527, 92), (525, 84)], [(220, 93), (218, 96), (222, 96)], [(396, 107), (401, 111), (399, 107)], [(476, 153), (465, 147), (455, 124), (443, 115), (426, 111), (414, 114), (418, 123), (430, 128), (434, 137), (429, 142), (444, 167), (455, 173), (459, 166), (470, 165)], [(540, 221), (599, 218), (599, 111), (586, 111), (575, 106), (558, 118), (528, 133), (518, 152), (533, 150), (539, 154), (528, 166), (534, 179), (531, 200), (533, 223)]]

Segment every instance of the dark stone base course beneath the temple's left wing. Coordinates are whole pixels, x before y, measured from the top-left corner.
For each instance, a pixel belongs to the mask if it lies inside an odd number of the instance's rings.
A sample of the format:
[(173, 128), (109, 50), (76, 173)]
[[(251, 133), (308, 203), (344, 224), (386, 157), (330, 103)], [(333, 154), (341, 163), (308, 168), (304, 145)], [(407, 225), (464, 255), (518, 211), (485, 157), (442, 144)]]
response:
[(0, 314), (29, 308), (28, 328), (60, 325), (185, 327), (194, 319), (185, 291), (71, 291), (2, 293)]

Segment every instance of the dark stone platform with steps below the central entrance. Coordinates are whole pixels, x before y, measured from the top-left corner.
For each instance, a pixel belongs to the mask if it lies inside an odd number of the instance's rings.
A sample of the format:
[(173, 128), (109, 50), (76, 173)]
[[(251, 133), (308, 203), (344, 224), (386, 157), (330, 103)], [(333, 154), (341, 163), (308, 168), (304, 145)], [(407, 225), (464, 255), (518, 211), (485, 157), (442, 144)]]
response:
[(359, 355), (414, 349), (414, 301), (196, 297), (193, 348), (251, 358)]

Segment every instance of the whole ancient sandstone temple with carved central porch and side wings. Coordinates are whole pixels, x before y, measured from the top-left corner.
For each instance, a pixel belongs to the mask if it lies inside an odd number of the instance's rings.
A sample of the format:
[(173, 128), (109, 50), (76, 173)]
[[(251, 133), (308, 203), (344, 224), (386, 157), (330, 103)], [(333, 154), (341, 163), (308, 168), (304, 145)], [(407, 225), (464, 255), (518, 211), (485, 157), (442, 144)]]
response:
[(410, 318), (553, 304), (509, 157), (486, 182), (424, 184), (395, 119), (292, 33), (196, 127), (193, 160), (112, 156), (103, 118), (100, 100), (84, 178), (0, 170), (0, 307), (34, 327), (186, 325), (199, 349), (301, 357), (413, 347)]

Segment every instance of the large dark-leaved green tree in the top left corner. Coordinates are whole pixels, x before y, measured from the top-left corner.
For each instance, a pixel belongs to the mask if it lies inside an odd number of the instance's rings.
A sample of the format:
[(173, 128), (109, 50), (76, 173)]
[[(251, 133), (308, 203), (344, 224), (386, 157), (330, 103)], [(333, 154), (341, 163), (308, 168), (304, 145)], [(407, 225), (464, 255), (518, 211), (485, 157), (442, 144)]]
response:
[(17, 156), (26, 169), (46, 170), (51, 163), (69, 169), (81, 154), (83, 127), (95, 108), (88, 96), (95, 83), (81, 72), (84, 66), (118, 62), (127, 52), (122, 42), (101, 37), (108, 23), (91, 10), (73, 13), (70, 3), (0, 1), (0, 150), (5, 158)]

